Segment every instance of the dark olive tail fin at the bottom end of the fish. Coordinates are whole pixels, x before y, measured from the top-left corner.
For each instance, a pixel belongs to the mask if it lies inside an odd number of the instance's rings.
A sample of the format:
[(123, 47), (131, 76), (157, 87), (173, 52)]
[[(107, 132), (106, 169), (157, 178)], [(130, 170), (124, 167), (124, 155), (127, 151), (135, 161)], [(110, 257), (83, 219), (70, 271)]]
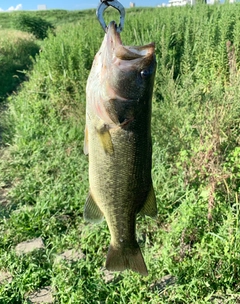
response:
[(134, 245), (135, 246), (131, 248), (117, 248), (110, 245), (107, 254), (106, 268), (112, 271), (131, 269), (143, 276), (147, 276), (148, 271), (141, 250), (137, 242)]

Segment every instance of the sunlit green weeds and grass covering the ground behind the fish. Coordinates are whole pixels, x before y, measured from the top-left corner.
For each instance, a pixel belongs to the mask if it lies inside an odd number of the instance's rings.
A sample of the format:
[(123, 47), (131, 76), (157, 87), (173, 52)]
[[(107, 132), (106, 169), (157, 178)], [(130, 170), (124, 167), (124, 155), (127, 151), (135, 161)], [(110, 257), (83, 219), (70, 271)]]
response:
[[(2, 133), (9, 147), (0, 159), (0, 270), (13, 279), (0, 283), (0, 302), (24, 303), (49, 285), (56, 303), (240, 301), (239, 13), (239, 4), (127, 11), (124, 43), (155, 41), (158, 61), (152, 133), (159, 215), (137, 222), (146, 278), (126, 271), (106, 283), (108, 229), (82, 217), (85, 86), (104, 35), (95, 12), (74, 12), (83, 18), (41, 41), (28, 81), (8, 98)], [(35, 237), (45, 249), (16, 255), (19, 242)], [(55, 263), (69, 248), (85, 258)]]

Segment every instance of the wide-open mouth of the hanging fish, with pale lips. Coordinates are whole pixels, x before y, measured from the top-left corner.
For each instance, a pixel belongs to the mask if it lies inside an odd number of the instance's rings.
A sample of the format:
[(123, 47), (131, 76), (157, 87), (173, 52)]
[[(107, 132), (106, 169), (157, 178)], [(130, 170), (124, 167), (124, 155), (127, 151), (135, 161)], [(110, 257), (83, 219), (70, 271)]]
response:
[(107, 42), (114, 56), (121, 60), (134, 60), (144, 57), (152, 57), (155, 52), (155, 43), (149, 43), (143, 46), (124, 46), (117, 32), (117, 24), (111, 21), (107, 30)]

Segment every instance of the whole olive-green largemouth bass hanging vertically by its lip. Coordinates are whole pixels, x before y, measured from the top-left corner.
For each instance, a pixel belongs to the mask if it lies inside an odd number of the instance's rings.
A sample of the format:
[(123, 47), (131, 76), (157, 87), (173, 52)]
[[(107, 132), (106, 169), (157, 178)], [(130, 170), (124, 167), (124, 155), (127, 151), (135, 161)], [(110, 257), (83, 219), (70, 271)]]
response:
[(124, 46), (112, 21), (86, 86), (89, 193), (84, 219), (106, 219), (111, 235), (106, 269), (131, 269), (143, 276), (148, 270), (136, 240), (136, 216), (157, 215), (151, 177), (156, 66), (155, 44)]

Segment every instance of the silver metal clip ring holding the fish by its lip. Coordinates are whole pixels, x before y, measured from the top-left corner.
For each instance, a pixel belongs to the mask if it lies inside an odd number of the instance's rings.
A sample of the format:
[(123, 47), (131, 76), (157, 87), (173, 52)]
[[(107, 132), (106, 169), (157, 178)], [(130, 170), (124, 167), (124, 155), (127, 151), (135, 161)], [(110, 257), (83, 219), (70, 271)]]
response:
[(125, 18), (124, 7), (117, 0), (100, 0), (100, 1), (101, 2), (97, 8), (96, 15), (97, 15), (98, 21), (100, 22), (104, 32), (106, 33), (108, 28), (104, 21), (103, 13), (109, 6), (112, 6), (116, 10), (118, 10), (120, 13), (120, 23), (119, 23), (119, 26), (117, 27), (117, 32), (120, 33), (123, 30), (123, 25), (124, 25), (124, 18)]

